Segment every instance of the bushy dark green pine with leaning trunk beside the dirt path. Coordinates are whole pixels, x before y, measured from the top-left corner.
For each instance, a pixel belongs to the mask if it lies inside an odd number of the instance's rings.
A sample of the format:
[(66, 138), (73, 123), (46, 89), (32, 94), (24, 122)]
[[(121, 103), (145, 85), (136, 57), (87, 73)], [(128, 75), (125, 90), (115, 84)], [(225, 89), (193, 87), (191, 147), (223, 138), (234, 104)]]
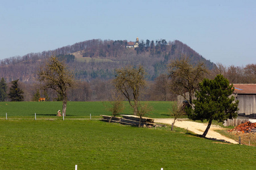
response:
[(190, 109), (188, 117), (208, 121), (203, 137), (207, 135), (213, 120), (224, 122), (228, 118), (237, 117), (239, 101), (234, 101), (233, 91), (233, 84), (229, 84), (229, 80), (221, 74), (214, 80), (204, 79), (199, 83), (196, 99), (193, 100), (194, 109)]

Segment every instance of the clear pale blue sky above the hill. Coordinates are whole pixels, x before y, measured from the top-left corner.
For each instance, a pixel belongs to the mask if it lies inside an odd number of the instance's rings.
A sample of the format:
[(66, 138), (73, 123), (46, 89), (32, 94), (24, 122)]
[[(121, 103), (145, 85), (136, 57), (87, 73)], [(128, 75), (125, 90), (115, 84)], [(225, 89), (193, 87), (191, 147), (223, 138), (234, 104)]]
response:
[(101, 40), (179, 40), (214, 63), (256, 64), (256, 1), (0, 0), (0, 59)]

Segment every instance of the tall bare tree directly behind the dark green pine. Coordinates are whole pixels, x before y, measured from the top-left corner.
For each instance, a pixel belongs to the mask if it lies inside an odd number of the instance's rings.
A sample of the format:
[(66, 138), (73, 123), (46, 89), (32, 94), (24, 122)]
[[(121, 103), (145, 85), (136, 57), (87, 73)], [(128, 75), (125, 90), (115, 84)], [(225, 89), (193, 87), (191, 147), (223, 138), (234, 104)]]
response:
[[(171, 78), (170, 90), (176, 95), (181, 95), (192, 105), (192, 98), (199, 82), (203, 80), (208, 70), (203, 62), (192, 65), (186, 56), (176, 59), (168, 65)], [(188, 92), (188, 96), (186, 95)]]

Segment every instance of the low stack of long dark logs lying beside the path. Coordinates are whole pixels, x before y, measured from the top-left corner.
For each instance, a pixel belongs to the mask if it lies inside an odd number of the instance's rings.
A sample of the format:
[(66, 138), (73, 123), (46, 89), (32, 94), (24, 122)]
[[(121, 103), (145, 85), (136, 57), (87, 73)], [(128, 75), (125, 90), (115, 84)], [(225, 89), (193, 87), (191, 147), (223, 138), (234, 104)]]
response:
[[(117, 122), (119, 124), (123, 125), (132, 125), (132, 126), (139, 126), (139, 121), (140, 118), (139, 116), (133, 116), (133, 115), (121, 115), (122, 117), (112, 117), (112, 116), (106, 116), (106, 115), (101, 115), (102, 116), (102, 121), (105, 122)], [(110, 121), (111, 118), (111, 121)], [(162, 124), (155, 124), (154, 119), (149, 118), (149, 117), (142, 117), (141, 118), (141, 126), (145, 126), (148, 128), (152, 127), (162, 127), (166, 125)]]

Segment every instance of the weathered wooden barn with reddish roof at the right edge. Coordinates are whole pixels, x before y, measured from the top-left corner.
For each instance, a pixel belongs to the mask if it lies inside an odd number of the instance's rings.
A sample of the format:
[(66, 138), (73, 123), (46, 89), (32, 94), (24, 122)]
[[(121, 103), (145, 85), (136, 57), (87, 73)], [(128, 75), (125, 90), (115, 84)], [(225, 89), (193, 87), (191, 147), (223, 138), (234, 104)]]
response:
[(256, 114), (256, 84), (233, 84), (234, 95), (239, 100), (238, 114)]

